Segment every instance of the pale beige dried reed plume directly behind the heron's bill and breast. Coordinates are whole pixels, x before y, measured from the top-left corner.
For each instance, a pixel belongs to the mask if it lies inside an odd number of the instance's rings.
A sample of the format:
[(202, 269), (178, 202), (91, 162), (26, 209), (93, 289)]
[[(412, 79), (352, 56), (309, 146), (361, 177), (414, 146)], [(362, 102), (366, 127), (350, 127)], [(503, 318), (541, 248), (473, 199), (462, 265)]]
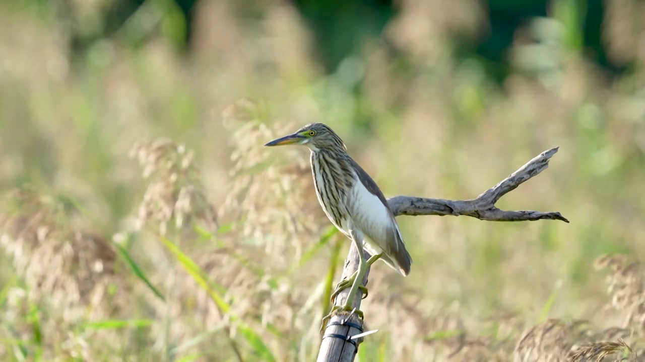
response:
[[(313, 191), (308, 155), (301, 150), (271, 152), (266, 140), (288, 133), (293, 126), (273, 132), (262, 122), (262, 108), (242, 99), (223, 112), (232, 146), (232, 184), (222, 214), (243, 219), (238, 231), (264, 245), (275, 257), (273, 267), (297, 262), (303, 249), (328, 225)], [(285, 159), (288, 157), (287, 159)]]

